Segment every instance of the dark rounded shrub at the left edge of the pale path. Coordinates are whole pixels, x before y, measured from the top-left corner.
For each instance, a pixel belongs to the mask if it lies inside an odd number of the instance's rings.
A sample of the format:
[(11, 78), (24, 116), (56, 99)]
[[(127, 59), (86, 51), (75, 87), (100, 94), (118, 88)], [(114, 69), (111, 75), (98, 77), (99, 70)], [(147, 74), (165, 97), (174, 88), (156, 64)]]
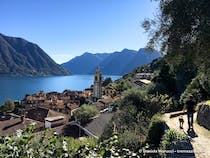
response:
[(151, 147), (158, 147), (166, 127), (165, 121), (162, 120), (161, 115), (156, 114), (152, 117), (149, 131), (147, 135), (147, 143)]

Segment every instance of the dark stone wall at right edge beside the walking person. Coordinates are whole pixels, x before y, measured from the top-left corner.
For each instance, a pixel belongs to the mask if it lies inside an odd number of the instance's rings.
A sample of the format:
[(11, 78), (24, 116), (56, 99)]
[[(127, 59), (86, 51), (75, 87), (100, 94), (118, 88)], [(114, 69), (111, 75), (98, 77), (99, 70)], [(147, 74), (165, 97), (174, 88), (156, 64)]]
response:
[(199, 106), (197, 122), (210, 130), (210, 105), (203, 103)]

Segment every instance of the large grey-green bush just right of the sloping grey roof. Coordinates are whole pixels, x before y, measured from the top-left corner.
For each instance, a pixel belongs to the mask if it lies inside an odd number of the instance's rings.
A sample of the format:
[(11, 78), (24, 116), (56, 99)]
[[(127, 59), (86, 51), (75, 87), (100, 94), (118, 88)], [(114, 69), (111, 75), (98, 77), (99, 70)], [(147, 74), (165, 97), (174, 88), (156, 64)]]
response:
[[(118, 110), (105, 127), (101, 139), (107, 139), (113, 134), (113, 130), (116, 129), (119, 137), (125, 135), (125, 131), (129, 131), (130, 135), (134, 135), (135, 138), (138, 137), (138, 142), (143, 143), (148, 132), (149, 118), (142, 113), (137, 112), (136, 107), (133, 105), (128, 105)], [(128, 134), (128, 132), (126, 133)], [(123, 144), (123, 141), (121, 143)]]

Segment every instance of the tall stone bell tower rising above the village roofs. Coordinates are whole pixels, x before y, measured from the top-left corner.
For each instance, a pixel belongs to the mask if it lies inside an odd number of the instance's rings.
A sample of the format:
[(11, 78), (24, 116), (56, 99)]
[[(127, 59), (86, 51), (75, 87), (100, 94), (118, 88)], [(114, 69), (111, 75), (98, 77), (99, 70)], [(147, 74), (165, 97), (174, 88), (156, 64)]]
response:
[(93, 97), (96, 100), (102, 97), (102, 73), (99, 67), (96, 68), (94, 75)]

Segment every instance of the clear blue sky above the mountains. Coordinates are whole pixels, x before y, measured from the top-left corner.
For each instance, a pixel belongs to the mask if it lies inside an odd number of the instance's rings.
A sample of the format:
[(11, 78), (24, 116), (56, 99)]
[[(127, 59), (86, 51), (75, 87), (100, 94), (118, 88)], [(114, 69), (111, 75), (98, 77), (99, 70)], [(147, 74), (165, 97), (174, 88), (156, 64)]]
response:
[(0, 33), (38, 44), (61, 64), (84, 52), (145, 47), (141, 23), (157, 6), (151, 0), (1, 0)]

